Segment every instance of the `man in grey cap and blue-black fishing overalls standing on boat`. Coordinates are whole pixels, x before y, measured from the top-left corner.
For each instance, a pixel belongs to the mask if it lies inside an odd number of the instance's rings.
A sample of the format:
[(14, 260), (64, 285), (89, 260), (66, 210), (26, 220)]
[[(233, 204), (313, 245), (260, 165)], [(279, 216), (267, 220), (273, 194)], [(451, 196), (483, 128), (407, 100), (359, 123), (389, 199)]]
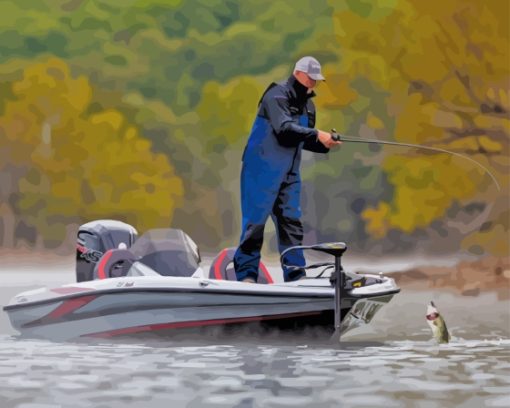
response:
[[(301, 150), (327, 153), (341, 142), (314, 129), (312, 98), (317, 81), (323, 81), (321, 65), (313, 57), (301, 58), (293, 75), (272, 83), (262, 95), (257, 116), (243, 153), (241, 171), (242, 232), (234, 256), (239, 281), (256, 282), (264, 226), (271, 215), (276, 226), (278, 249), (301, 245)], [(291, 251), (285, 264), (304, 266), (302, 251)], [(284, 268), (286, 282), (305, 276), (303, 269)]]

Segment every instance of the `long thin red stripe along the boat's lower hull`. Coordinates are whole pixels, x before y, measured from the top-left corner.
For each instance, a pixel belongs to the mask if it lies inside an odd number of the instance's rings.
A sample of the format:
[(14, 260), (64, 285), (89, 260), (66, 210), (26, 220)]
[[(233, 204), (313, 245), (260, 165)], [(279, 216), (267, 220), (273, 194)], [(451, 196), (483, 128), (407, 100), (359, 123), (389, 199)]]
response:
[(176, 323), (159, 323), (159, 324), (148, 324), (145, 326), (137, 326), (137, 327), (126, 327), (125, 329), (117, 329), (99, 333), (93, 333), (89, 335), (85, 335), (85, 337), (114, 337), (122, 334), (134, 334), (134, 333), (143, 333), (143, 332), (151, 332), (156, 330), (163, 329), (182, 329), (186, 327), (202, 327), (202, 326), (213, 326), (213, 325), (223, 325), (223, 324), (232, 324), (232, 323), (249, 323), (249, 322), (257, 322), (262, 320), (277, 320), (277, 319), (287, 319), (290, 317), (301, 317), (301, 316), (313, 316), (318, 315), (321, 312), (303, 312), (303, 313), (287, 313), (280, 314), (274, 316), (251, 316), (251, 317), (234, 317), (231, 319), (213, 319), (213, 320), (195, 320), (191, 322), (176, 322)]

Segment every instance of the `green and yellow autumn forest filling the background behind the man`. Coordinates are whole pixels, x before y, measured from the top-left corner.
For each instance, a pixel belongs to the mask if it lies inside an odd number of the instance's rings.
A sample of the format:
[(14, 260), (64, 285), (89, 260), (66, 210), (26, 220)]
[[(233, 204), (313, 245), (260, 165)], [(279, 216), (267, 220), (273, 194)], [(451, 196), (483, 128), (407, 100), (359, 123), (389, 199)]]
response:
[(319, 128), (469, 154), (504, 191), (458, 158), (344, 144), (305, 157), (307, 227), (399, 250), (494, 202), (461, 235), (505, 253), (508, 15), (504, 1), (3, 1), (0, 221), (14, 211), (47, 243), (111, 216), (232, 245), (261, 92), (314, 55)]

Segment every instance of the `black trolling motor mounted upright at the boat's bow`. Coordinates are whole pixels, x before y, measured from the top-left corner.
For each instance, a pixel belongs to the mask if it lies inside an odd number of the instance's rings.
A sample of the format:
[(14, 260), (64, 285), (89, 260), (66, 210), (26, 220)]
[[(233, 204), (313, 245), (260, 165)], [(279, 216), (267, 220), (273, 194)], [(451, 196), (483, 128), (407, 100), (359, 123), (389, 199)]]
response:
[[(335, 257), (335, 262), (334, 263), (321, 262), (303, 266), (285, 264), (284, 260), (285, 255), (295, 250), (313, 250), (323, 252), (329, 255), (333, 255)], [(346, 290), (363, 285), (362, 282), (363, 278), (360, 280), (352, 281), (352, 279), (347, 278), (347, 276), (345, 275), (344, 269), (342, 267), (342, 255), (346, 250), (347, 245), (344, 242), (327, 242), (323, 244), (316, 244), (310, 246), (302, 245), (293, 246), (283, 251), (280, 256), (280, 263), (282, 267), (288, 268), (290, 270), (295, 271), (324, 267), (325, 269), (317, 277), (320, 277), (322, 273), (324, 273), (324, 271), (326, 271), (327, 269), (334, 268), (333, 272), (330, 275), (329, 281), (331, 282), (331, 286), (335, 288), (335, 320), (334, 320), (335, 334), (333, 336), (337, 337), (338, 339), (340, 339), (340, 325), (342, 323), (342, 296), (345, 294)], [(349, 284), (347, 283), (348, 281)]]

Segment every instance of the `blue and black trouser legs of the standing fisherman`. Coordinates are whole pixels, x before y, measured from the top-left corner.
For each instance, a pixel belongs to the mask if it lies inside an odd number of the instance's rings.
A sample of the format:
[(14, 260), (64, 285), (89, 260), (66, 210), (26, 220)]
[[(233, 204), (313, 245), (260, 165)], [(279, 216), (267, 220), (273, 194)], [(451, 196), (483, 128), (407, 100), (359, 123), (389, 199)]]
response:
[[(278, 250), (301, 245), (303, 224), (300, 221), (301, 180), (296, 173), (286, 175), (283, 182), (275, 185), (270, 175), (261, 174), (260, 167), (243, 164), (241, 172), (241, 209), (243, 213), (242, 233), (239, 247), (234, 256), (237, 280), (257, 280), (260, 250), (264, 239), (264, 227), (269, 215), (276, 226)], [(291, 251), (284, 263), (304, 266), (301, 250)], [(303, 269), (283, 268), (284, 280), (297, 280), (305, 275)]]

